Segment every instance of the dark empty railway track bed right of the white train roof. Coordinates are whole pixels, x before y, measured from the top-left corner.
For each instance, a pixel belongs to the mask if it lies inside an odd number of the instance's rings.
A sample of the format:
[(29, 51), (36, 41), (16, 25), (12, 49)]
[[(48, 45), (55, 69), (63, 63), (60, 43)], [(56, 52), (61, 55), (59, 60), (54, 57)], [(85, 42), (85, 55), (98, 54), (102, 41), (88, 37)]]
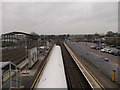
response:
[(84, 75), (70, 56), (63, 44), (61, 44), (65, 74), (67, 79), (68, 90), (73, 89), (91, 89)]

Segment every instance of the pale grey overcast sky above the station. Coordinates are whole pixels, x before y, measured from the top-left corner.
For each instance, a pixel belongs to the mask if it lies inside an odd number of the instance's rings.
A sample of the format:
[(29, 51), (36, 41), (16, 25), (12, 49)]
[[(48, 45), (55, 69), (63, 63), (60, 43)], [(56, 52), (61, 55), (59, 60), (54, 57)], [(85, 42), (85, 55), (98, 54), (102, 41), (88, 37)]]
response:
[(118, 31), (117, 2), (4, 2), (2, 32), (85, 34)]

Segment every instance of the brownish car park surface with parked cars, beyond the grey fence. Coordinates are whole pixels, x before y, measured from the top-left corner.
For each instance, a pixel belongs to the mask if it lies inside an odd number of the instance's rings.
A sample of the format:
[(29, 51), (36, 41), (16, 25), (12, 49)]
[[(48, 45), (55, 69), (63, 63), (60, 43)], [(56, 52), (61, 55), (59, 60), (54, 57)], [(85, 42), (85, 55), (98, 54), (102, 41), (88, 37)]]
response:
[[(77, 45), (87, 49), (89, 52), (92, 52), (95, 55), (101, 56), (103, 58), (108, 58), (109, 61), (118, 63), (118, 56), (114, 55), (114, 51), (118, 50), (118, 49), (116, 49), (114, 47), (110, 47), (107, 45), (107, 46), (105, 46), (105, 48), (104, 48), (104, 46), (102, 46), (103, 49), (96, 50), (96, 49), (91, 49), (91, 46), (94, 46), (94, 48), (95, 48), (95, 46), (101, 46), (102, 44), (98, 45), (96, 43), (88, 43), (88, 45), (86, 46), (85, 43), (79, 42), (79, 43), (77, 43)], [(108, 53), (105, 53), (106, 49), (110, 49), (110, 51)]]

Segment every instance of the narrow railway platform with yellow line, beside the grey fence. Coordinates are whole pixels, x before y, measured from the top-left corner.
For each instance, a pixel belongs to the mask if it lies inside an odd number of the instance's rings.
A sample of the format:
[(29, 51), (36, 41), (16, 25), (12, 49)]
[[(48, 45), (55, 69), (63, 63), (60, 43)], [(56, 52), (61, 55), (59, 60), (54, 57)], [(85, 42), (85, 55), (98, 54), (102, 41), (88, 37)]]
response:
[[(93, 88), (102, 88), (102, 89), (118, 89), (120, 86), (112, 82), (110, 78), (108, 78), (104, 73), (101, 73), (98, 68), (96, 68), (92, 63), (88, 62), (83, 58), (79, 52), (74, 51), (70, 46), (65, 44), (71, 56), (74, 58), (75, 62), (79, 66), (79, 68), (86, 73), (86, 78), (91, 83)], [(86, 70), (85, 70), (86, 69)], [(85, 70), (85, 71), (84, 71)], [(89, 77), (90, 76), (90, 77)], [(92, 81), (90, 80), (92, 79)], [(98, 87), (99, 86), (99, 87)]]

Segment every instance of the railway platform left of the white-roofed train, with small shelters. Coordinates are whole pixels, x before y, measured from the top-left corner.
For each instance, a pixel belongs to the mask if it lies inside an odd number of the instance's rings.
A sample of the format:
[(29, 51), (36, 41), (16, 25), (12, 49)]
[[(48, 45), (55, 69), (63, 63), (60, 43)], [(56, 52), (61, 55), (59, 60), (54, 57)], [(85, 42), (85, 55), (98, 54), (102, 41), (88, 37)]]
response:
[[(23, 89), (29, 90), (31, 88), (31, 86), (33, 85), (33, 83), (35, 81), (37, 74), (39, 73), (39, 70), (42, 68), (43, 63), (46, 60), (47, 55), (49, 54), (49, 51), (50, 50), (46, 51), (46, 55), (39, 54), (38, 61), (35, 63), (35, 65), (31, 69), (27, 68), (28, 58), (17, 65), (21, 69), (21, 72), (20, 72), (20, 79), (21, 79), (21, 81), (20, 81), (21, 87), (20, 88), (21, 89), (23, 88)], [(16, 77), (16, 75), (12, 74), (12, 72), (11, 72), (11, 76), (12, 76), (13, 80)], [(8, 73), (8, 75), (6, 75), (4, 77), (4, 80), (6, 80), (6, 81), (3, 85), (3, 88), (9, 89), (9, 85), (10, 85), (9, 73)], [(26, 83), (26, 81), (29, 83)], [(14, 86), (14, 82), (12, 83), (12, 85)], [(12, 87), (12, 88), (14, 88), (14, 87)]]

